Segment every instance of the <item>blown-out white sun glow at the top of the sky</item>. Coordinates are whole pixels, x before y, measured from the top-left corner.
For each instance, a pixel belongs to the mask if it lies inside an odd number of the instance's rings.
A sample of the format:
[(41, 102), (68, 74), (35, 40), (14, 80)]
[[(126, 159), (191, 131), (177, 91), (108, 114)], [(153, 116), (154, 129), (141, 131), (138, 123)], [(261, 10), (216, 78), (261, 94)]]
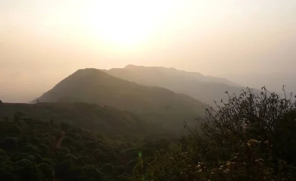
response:
[(87, 5), (84, 23), (104, 43), (135, 46), (149, 40), (172, 5), (167, 0), (97, 1)]

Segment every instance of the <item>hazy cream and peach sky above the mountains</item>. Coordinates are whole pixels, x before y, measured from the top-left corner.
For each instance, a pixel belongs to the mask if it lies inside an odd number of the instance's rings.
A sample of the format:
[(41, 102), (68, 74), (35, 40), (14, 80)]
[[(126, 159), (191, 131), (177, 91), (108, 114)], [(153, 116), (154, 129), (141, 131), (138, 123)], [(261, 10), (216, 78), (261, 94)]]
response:
[(295, 17), (296, 0), (0, 0), (0, 82), (42, 92), (79, 68), (127, 64), (291, 77)]

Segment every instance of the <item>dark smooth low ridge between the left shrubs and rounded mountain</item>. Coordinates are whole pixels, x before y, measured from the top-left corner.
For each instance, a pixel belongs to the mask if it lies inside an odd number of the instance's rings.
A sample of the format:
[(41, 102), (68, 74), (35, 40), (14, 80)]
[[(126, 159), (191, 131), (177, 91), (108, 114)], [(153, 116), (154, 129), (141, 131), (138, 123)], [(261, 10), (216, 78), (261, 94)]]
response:
[[(106, 133), (109, 135), (128, 134), (148, 130), (154, 132), (153, 123), (141, 120), (127, 111), (121, 111), (110, 106), (89, 103), (3, 103), (2, 116), (13, 117), (21, 112), (25, 117), (33, 117), (45, 121), (67, 122), (80, 128)], [(153, 131), (152, 131), (153, 130)]]

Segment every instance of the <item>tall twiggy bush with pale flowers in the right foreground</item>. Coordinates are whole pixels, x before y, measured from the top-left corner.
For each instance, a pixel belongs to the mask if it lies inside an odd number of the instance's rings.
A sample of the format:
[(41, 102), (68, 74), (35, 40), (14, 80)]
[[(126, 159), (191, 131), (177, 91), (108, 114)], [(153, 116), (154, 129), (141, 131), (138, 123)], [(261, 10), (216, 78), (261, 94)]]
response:
[(262, 89), (209, 107), (200, 133), (188, 129), (176, 148), (139, 159), (133, 180), (296, 180), (296, 102)]

